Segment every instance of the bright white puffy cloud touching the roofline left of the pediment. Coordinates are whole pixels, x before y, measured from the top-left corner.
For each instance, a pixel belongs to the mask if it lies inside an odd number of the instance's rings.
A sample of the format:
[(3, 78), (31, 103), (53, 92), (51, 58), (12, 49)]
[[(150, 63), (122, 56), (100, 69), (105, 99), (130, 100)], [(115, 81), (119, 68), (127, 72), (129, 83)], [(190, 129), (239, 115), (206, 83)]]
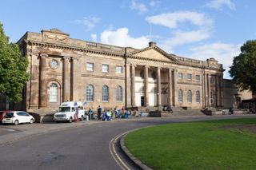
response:
[(127, 28), (119, 28), (118, 30), (104, 30), (101, 34), (101, 42), (110, 45), (131, 46), (142, 49), (148, 46), (150, 40), (146, 36), (132, 38)]

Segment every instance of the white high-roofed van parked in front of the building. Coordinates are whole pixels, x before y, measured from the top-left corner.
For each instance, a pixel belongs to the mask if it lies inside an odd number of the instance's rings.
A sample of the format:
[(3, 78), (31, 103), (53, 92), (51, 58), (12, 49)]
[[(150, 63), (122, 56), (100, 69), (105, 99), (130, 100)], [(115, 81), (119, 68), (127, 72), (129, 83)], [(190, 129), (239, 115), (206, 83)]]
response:
[(78, 110), (78, 118), (82, 121), (85, 116), (85, 110), (81, 101), (67, 101), (59, 106), (58, 113), (54, 114), (54, 121), (69, 121), (70, 123), (75, 119), (75, 113)]

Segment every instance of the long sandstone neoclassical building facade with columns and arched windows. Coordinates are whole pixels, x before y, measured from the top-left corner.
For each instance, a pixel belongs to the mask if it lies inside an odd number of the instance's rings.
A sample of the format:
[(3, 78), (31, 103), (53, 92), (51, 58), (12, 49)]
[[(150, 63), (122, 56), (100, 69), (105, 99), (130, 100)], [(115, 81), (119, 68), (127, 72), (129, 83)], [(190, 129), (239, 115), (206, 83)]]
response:
[(23, 107), (56, 110), (63, 101), (96, 109), (223, 106), (222, 65), (166, 53), (70, 38), (58, 29), (27, 32), (18, 45), (30, 65)]

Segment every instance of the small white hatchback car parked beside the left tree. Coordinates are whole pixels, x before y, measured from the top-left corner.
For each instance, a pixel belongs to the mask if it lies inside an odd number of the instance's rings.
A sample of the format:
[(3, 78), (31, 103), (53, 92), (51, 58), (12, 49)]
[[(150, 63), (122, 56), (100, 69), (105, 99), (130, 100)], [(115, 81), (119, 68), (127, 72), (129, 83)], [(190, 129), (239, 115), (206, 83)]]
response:
[(22, 123), (34, 123), (34, 117), (24, 111), (10, 111), (6, 113), (6, 116), (2, 119), (2, 124), (22, 124)]

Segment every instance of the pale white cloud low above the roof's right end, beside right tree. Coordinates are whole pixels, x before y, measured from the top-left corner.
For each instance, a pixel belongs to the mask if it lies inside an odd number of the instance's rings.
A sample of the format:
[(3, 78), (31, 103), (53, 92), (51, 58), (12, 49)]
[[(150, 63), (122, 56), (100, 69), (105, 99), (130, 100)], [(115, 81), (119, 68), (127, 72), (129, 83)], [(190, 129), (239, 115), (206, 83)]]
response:
[(207, 58), (214, 57), (226, 69), (225, 78), (230, 78), (228, 71), (233, 62), (233, 57), (240, 53), (240, 45), (216, 42), (208, 45), (195, 46), (187, 53), (187, 57), (198, 58), (206, 61)]

